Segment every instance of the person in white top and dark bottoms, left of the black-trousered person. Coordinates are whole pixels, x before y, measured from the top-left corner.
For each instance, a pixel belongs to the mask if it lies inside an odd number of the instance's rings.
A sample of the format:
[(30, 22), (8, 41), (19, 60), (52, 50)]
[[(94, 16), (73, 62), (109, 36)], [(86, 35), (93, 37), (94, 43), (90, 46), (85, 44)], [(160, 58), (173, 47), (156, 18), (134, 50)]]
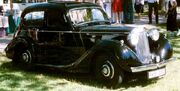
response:
[(138, 14), (138, 18), (140, 19), (141, 13), (144, 12), (144, 0), (135, 0), (135, 10)]

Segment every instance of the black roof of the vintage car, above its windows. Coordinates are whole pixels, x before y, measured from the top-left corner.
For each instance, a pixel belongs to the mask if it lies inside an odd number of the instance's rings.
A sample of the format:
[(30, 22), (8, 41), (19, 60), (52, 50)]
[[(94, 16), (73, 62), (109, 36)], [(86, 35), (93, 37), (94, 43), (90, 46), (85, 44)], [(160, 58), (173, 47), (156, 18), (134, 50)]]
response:
[(44, 10), (44, 9), (59, 9), (59, 10), (69, 10), (78, 7), (100, 7), (99, 5), (90, 2), (75, 2), (75, 1), (53, 1), (48, 3), (41, 3), (28, 6), (22, 12), (22, 16), (31, 11)]

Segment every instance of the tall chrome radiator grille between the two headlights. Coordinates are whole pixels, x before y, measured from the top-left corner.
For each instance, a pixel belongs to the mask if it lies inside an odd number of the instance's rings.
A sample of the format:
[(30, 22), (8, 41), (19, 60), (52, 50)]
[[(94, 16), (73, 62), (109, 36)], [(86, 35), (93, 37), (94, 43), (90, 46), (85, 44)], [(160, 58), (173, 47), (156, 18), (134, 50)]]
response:
[(139, 41), (135, 46), (136, 54), (143, 64), (149, 64), (150, 62), (152, 62), (152, 58), (147, 33), (145, 31), (142, 31), (139, 33), (138, 37)]

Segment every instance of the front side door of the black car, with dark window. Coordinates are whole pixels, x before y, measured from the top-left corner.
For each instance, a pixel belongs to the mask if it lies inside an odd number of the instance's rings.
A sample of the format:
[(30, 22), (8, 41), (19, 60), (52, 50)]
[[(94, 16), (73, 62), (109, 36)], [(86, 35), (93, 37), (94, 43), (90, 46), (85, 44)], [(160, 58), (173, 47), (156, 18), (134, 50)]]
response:
[[(80, 34), (71, 31), (62, 11), (47, 11), (47, 29), (39, 31), (44, 58), (39, 63), (51, 65), (68, 65), (75, 62), (85, 49)], [(40, 38), (39, 38), (40, 39)]]

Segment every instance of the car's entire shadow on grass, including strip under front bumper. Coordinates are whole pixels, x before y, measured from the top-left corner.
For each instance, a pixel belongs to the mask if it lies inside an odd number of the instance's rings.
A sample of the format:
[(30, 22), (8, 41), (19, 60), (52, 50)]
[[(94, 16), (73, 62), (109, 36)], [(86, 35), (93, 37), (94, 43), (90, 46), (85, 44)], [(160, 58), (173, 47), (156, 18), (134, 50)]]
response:
[[(45, 76), (44, 80), (43, 77)], [(23, 82), (29, 83), (26, 85), (27, 90), (49, 90), (52, 87), (47, 85), (46, 80), (56, 80), (56, 79), (65, 79), (65, 82), (58, 82), (56, 85), (65, 86), (69, 82), (75, 82), (78, 84), (83, 84), (96, 88), (106, 88), (103, 84), (98, 83), (93, 75), (90, 73), (79, 74), (79, 73), (67, 73), (61, 70), (46, 68), (46, 67), (35, 67), (33, 69), (27, 69), (24, 65), (13, 65), (11, 62), (3, 63), (0, 66), (0, 81), (4, 81), (7, 87), (18, 88), (21, 87)], [(6, 82), (7, 81), (7, 82)], [(10, 81), (10, 83), (8, 83)], [(130, 88), (141, 86), (145, 87), (149, 84), (155, 83), (156, 80), (128, 80), (128, 82), (122, 83), (116, 89)], [(111, 88), (108, 88), (111, 89)], [(3, 89), (6, 90), (6, 89)]]

